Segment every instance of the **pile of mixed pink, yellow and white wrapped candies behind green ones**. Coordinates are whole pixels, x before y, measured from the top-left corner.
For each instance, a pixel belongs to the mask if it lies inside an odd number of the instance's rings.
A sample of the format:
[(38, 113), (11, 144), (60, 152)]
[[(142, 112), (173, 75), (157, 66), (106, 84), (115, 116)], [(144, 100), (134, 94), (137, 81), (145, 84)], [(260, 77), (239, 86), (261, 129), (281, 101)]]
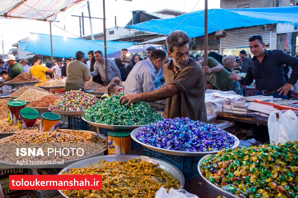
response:
[(52, 111), (84, 111), (96, 104), (97, 98), (81, 90), (66, 92), (63, 98), (50, 104)]

